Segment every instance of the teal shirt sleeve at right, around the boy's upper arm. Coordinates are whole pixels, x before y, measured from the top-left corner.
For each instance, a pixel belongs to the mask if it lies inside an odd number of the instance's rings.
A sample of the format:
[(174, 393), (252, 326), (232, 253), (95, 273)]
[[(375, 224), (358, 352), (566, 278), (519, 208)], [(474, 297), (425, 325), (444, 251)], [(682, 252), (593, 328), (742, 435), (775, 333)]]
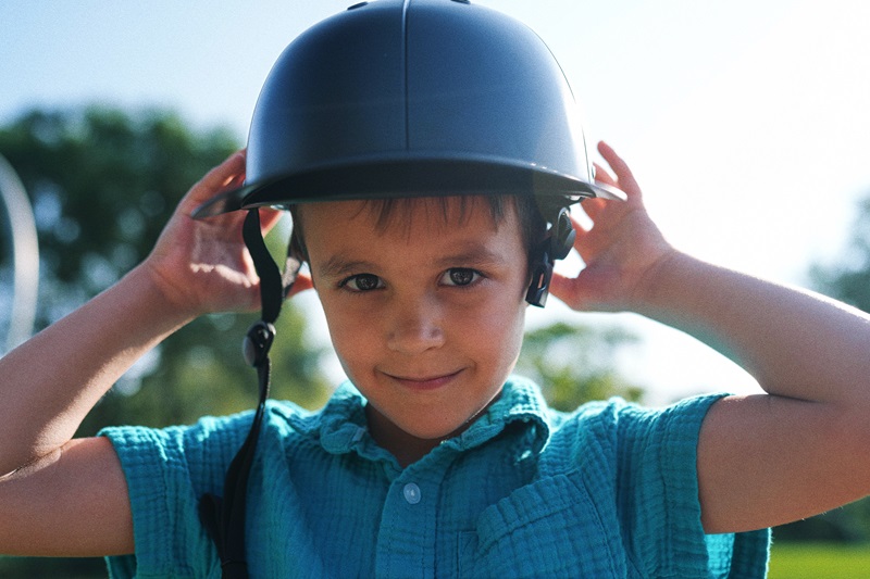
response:
[(692, 398), (663, 411), (624, 403), (613, 407), (624, 539), (649, 577), (767, 574), (769, 529), (705, 534), (701, 526), (698, 437), (707, 411), (720, 398)]

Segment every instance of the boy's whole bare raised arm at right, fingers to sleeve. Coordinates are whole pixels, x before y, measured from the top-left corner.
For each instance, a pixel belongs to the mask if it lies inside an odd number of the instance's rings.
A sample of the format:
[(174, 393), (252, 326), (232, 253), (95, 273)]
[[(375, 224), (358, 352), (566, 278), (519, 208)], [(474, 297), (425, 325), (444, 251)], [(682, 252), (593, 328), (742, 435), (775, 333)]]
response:
[(554, 293), (575, 309), (627, 310), (682, 329), (746, 368), (767, 395), (713, 405), (698, 478), (708, 532), (796, 520), (870, 493), (870, 316), (821, 295), (738, 274), (670, 247), (625, 163), (600, 178), (624, 204), (584, 202), (587, 267)]

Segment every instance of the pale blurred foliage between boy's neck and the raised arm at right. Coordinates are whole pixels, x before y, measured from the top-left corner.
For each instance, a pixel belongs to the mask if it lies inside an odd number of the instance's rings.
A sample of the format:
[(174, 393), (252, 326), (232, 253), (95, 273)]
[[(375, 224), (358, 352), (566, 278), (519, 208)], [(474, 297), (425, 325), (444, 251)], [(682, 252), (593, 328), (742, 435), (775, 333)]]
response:
[(547, 403), (559, 411), (610, 397), (638, 402), (643, 389), (613, 369), (618, 350), (636, 340), (622, 329), (558, 322), (526, 332), (517, 370), (537, 381)]

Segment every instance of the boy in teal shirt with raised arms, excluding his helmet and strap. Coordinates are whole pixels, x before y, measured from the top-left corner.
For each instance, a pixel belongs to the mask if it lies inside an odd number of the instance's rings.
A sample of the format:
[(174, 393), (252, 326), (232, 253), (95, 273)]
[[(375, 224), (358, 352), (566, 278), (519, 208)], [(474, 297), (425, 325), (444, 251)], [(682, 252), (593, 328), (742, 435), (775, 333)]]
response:
[[(221, 574), (200, 501), (226, 494), (250, 414), (70, 439), (165, 336), (258, 304), (243, 217), (190, 217), (228, 203), (246, 162), (250, 181), (270, 180), (254, 129), (248, 159), (197, 184), (142, 264), (0, 361), (0, 439), (12, 441), (0, 448), (0, 552), (119, 555), (119, 577)], [(868, 316), (671, 247), (626, 164), (599, 152), (613, 175), (599, 168), (594, 191), (626, 200), (583, 202), (594, 225), (573, 224), (576, 277), (536, 281), (542, 222), (559, 217), (530, 196), (271, 199), (294, 205), (294, 253), (310, 266), (290, 293), (316, 290), (352, 385), (316, 414), (268, 406), (246, 494), (251, 576), (760, 576), (763, 529), (870, 492)], [(268, 230), (277, 213), (259, 211)], [(510, 377), (542, 286), (575, 310), (688, 331), (769, 394), (550, 412)]]

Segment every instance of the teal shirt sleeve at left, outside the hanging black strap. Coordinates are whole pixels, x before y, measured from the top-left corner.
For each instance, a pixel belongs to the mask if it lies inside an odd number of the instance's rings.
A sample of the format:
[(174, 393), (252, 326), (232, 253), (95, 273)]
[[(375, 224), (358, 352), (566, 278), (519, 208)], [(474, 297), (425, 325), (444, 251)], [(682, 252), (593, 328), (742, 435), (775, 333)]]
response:
[(108, 557), (113, 578), (221, 576), (216, 550), (199, 523), (199, 498), (221, 493), (224, 473), (250, 415), (203, 418), (192, 427), (107, 428), (126, 477), (135, 555)]

